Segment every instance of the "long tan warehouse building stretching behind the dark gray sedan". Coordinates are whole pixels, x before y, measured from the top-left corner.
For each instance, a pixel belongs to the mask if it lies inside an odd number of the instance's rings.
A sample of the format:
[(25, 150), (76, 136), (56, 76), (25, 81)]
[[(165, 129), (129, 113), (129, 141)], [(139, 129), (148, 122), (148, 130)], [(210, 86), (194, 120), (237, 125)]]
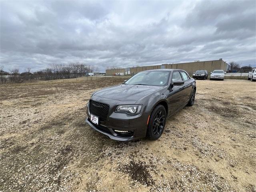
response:
[[(162, 67), (161, 67), (162, 66)], [(212, 60), (212, 61), (199, 61), (189, 63), (178, 63), (178, 64), (162, 64), (155, 66), (143, 66), (143, 67), (131, 67), (131, 74), (136, 74), (140, 71), (152, 70), (152, 69), (182, 69), (189, 73), (193, 73), (196, 70), (207, 70), (209, 73), (216, 69), (227, 70), (228, 66), (223, 60)], [(113, 75), (115, 73), (124, 73), (124, 68), (106, 70), (106, 75)]]

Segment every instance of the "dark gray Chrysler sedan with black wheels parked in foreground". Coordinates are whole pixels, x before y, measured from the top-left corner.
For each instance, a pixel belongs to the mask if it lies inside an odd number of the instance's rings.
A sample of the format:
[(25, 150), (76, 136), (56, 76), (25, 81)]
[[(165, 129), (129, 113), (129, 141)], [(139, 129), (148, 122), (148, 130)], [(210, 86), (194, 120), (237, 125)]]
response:
[(195, 94), (196, 81), (184, 70), (142, 71), (121, 85), (94, 92), (86, 104), (86, 122), (114, 140), (156, 140), (166, 119), (192, 106)]

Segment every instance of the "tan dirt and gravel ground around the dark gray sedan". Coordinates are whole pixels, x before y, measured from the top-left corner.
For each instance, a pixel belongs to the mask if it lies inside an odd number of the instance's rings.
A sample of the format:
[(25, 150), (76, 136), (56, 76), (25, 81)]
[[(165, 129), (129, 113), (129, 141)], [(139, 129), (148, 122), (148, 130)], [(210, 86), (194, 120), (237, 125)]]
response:
[(0, 191), (256, 191), (256, 82), (197, 80), (162, 137), (118, 142), (85, 104), (122, 78), (0, 86)]

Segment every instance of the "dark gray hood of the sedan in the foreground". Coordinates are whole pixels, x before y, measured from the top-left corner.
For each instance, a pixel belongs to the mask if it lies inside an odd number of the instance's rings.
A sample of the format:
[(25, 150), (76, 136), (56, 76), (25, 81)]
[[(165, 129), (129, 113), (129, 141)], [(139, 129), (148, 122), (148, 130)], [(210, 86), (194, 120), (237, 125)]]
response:
[(93, 95), (120, 101), (137, 101), (161, 88), (163, 88), (163, 86), (121, 84), (99, 90)]

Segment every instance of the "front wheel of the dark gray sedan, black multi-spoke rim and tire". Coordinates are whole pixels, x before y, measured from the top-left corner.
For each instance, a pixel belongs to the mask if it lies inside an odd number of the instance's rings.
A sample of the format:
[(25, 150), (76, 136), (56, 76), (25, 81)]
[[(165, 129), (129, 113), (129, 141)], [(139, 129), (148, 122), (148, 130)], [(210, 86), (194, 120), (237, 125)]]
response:
[(157, 140), (160, 138), (164, 131), (166, 122), (166, 110), (164, 106), (158, 105), (156, 106), (149, 119), (147, 137), (150, 140)]

